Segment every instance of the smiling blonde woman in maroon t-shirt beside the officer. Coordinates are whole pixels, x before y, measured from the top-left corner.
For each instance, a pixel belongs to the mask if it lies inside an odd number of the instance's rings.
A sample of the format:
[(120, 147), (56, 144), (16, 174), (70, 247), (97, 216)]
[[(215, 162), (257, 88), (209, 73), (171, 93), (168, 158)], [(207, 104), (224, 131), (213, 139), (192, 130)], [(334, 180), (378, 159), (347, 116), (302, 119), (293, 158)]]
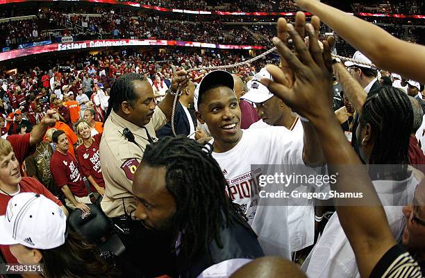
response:
[(91, 129), (90, 125), (85, 121), (78, 123), (76, 132), (79, 146), (76, 150), (76, 156), (81, 172), (90, 182), (92, 192), (103, 196), (105, 193), (105, 181), (103, 180), (99, 159), (99, 144), (102, 134), (98, 133), (92, 137)]

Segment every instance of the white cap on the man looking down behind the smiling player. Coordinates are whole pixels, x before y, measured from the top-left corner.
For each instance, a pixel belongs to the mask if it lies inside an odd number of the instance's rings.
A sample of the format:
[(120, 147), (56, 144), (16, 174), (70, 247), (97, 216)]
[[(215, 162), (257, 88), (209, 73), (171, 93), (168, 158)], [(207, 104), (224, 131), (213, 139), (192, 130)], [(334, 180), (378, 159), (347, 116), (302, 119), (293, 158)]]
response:
[(273, 93), (269, 91), (269, 88), (265, 87), (265, 85), (260, 82), (261, 78), (268, 78), (269, 80), (273, 80), (272, 75), (269, 73), (269, 71), (267, 71), (267, 69), (261, 69), (260, 72), (256, 73), (252, 80), (248, 81), (248, 92), (240, 98), (251, 101), (251, 103), (263, 103), (272, 98), (272, 96), (274, 96)]

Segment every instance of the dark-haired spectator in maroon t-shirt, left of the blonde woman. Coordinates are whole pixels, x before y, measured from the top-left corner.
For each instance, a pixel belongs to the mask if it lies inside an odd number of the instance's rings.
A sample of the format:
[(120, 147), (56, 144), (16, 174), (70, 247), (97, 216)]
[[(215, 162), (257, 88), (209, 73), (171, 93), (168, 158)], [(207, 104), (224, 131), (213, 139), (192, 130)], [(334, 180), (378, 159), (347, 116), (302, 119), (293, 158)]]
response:
[(50, 171), (56, 186), (60, 187), (64, 193), (67, 207), (89, 212), (90, 208), (86, 204), (92, 202), (85, 189), (76, 159), (68, 153), (67, 135), (63, 130), (56, 130), (51, 139), (56, 146), (56, 151), (51, 156)]

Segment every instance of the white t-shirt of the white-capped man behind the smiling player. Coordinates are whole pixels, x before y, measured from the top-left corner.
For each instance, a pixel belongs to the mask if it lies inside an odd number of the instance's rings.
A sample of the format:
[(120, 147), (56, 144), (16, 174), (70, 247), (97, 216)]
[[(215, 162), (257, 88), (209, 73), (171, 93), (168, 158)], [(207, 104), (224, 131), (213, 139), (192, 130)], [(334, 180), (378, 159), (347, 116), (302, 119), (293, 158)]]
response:
[[(251, 128), (269, 128), (263, 120), (253, 123)], [(303, 137), (303, 125), (299, 119), (291, 130), (297, 136)], [(298, 191), (307, 192), (307, 186), (297, 188)], [(297, 252), (315, 242), (315, 204), (313, 199), (299, 199), (297, 206), (288, 207), (288, 227), (290, 236), (291, 252)]]

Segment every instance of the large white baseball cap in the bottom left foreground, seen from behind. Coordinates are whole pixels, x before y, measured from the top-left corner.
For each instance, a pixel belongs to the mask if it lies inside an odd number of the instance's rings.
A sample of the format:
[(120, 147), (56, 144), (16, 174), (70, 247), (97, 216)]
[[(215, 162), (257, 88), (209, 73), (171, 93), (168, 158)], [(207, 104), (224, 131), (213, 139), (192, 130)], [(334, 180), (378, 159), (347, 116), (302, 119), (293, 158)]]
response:
[(66, 239), (67, 218), (52, 200), (37, 193), (20, 193), (0, 216), (0, 244), (52, 249)]

